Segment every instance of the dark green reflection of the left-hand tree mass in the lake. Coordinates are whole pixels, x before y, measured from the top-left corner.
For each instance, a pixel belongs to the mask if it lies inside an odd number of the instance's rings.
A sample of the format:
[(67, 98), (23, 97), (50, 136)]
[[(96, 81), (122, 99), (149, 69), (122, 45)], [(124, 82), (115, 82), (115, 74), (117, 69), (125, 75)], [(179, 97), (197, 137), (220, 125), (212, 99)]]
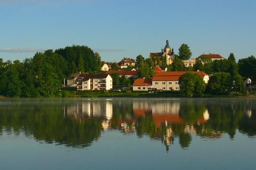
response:
[(93, 140), (100, 137), (100, 118), (74, 121), (63, 116), (62, 105), (48, 102), (29, 106), (1, 106), (0, 125), (8, 133), (24, 133), (33, 135), (36, 140), (74, 147), (89, 146)]

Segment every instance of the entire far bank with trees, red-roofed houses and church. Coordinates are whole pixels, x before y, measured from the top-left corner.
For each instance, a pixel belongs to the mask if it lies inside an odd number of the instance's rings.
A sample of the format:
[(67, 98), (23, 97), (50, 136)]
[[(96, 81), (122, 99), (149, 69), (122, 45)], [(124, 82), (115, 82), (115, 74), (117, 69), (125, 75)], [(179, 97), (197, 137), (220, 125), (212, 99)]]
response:
[(175, 54), (168, 40), (159, 51), (105, 62), (89, 47), (73, 45), (37, 52), (23, 62), (0, 59), (0, 95), (50, 97), (61, 90), (180, 92), (187, 97), (256, 93), (254, 56), (238, 62), (233, 53), (227, 59), (212, 53), (191, 58), (187, 44)]

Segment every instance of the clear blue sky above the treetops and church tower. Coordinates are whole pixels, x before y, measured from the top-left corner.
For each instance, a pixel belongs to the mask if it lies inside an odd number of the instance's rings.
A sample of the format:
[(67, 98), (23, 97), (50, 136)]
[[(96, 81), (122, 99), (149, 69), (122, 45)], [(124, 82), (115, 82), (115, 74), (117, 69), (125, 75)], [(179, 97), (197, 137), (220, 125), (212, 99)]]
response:
[(148, 57), (166, 39), (197, 57), (256, 56), (255, 0), (0, 0), (0, 57), (87, 45), (102, 60)]

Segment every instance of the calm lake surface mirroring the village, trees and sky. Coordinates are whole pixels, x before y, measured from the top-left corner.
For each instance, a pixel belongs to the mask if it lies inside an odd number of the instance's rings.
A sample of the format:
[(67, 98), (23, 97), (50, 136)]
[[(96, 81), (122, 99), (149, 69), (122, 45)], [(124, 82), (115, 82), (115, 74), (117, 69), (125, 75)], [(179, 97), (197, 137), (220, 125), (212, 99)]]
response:
[(256, 169), (256, 99), (0, 99), (0, 170)]

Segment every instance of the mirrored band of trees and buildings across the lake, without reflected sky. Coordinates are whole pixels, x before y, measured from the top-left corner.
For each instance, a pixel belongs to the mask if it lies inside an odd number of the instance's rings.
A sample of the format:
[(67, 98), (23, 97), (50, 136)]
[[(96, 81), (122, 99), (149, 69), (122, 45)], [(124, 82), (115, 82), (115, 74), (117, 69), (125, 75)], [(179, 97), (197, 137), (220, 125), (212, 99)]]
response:
[(237, 129), (256, 135), (256, 99), (1, 99), (0, 135), (87, 147), (101, 133), (147, 135), (168, 151), (190, 146), (193, 135), (212, 140)]

